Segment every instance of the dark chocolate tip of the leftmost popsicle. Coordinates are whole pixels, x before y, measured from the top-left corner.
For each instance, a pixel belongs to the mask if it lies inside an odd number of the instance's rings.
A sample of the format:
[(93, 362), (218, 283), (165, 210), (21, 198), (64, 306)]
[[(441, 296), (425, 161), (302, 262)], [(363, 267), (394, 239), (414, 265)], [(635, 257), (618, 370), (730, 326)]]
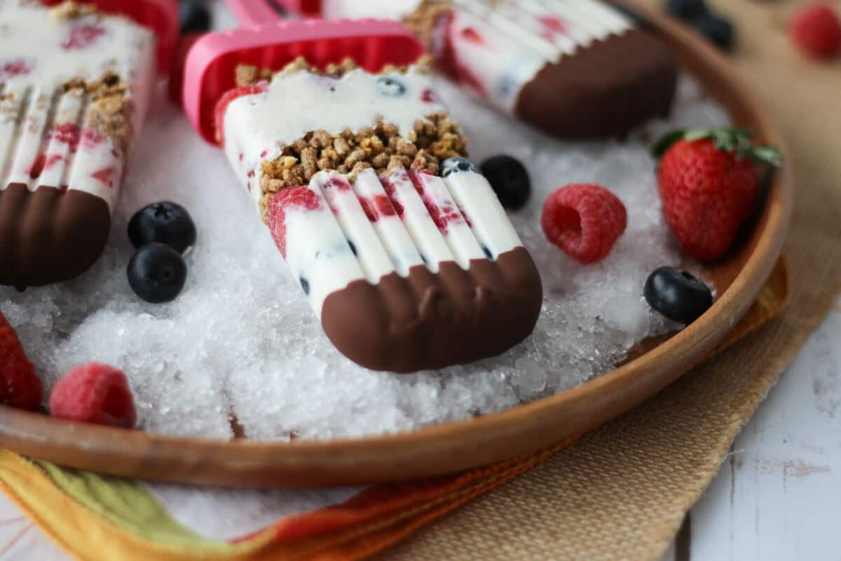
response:
[(81, 275), (102, 253), (110, 228), (103, 198), (11, 183), (0, 191), (0, 284), (27, 288)]

